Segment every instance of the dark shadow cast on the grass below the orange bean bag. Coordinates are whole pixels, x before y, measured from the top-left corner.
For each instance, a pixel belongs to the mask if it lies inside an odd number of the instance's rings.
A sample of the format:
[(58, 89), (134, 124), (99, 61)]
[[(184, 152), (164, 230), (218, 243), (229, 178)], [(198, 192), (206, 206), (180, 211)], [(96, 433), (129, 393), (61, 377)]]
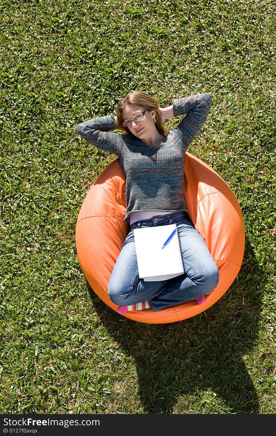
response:
[(205, 312), (170, 324), (121, 317), (87, 283), (102, 323), (136, 361), (144, 413), (259, 413), (243, 356), (258, 341), (263, 279), (246, 239), (242, 268), (225, 295)]

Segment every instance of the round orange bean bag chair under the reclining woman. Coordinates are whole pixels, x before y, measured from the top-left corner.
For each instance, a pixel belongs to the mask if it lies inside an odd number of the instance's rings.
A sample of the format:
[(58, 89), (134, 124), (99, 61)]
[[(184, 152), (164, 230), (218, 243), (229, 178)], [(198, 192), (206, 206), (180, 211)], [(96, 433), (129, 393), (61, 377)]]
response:
[[(129, 227), (126, 213), (125, 176), (118, 159), (99, 175), (78, 214), (76, 248), (82, 271), (92, 290), (117, 312), (107, 286)], [(184, 199), (195, 228), (204, 238), (219, 271), (219, 282), (195, 300), (154, 312), (126, 312), (123, 316), (148, 324), (181, 321), (212, 306), (228, 290), (239, 273), (245, 249), (245, 230), (239, 202), (228, 184), (208, 165), (185, 153)], [(119, 315), (118, 316), (122, 316)]]

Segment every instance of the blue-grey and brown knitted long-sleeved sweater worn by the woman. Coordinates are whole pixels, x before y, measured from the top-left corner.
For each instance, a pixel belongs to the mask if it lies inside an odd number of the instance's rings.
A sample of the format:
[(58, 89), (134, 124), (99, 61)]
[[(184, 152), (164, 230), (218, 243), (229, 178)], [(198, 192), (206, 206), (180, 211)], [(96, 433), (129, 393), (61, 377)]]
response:
[(101, 150), (119, 157), (126, 176), (126, 215), (133, 212), (187, 211), (184, 201), (184, 155), (205, 123), (211, 94), (196, 94), (173, 100), (174, 116), (184, 115), (178, 126), (169, 130), (158, 148), (152, 148), (130, 134), (112, 133), (113, 115), (78, 124), (77, 132)]

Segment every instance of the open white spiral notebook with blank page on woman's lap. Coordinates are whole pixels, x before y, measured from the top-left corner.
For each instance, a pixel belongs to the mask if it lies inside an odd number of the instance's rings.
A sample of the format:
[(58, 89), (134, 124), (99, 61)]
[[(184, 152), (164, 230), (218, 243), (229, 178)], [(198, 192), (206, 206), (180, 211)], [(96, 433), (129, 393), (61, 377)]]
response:
[(184, 274), (178, 233), (162, 249), (176, 224), (134, 229), (139, 278), (145, 282), (172, 279)]

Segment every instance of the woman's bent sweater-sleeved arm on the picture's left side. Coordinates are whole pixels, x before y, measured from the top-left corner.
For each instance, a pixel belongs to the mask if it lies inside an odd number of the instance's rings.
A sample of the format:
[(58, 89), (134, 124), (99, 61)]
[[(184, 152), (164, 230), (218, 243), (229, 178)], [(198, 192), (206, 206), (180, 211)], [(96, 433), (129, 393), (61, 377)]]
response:
[(111, 133), (116, 129), (114, 115), (92, 118), (84, 123), (78, 124), (76, 130), (83, 139), (101, 150), (109, 151), (117, 156), (122, 151), (123, 134)]

